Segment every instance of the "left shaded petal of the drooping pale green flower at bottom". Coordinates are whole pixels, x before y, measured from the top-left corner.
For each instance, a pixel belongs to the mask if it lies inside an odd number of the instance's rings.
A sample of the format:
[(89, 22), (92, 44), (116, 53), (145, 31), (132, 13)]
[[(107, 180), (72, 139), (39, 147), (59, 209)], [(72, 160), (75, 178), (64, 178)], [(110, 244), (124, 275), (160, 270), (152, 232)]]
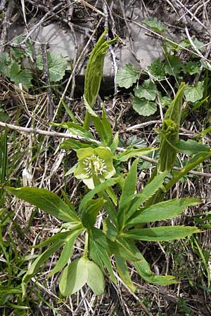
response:
[(79, 258), (72, 261), (64, 270), (60, 277), (59, 289), (63, 296), (75, 294), (84, 287), (88, 279), (87, 259)]

